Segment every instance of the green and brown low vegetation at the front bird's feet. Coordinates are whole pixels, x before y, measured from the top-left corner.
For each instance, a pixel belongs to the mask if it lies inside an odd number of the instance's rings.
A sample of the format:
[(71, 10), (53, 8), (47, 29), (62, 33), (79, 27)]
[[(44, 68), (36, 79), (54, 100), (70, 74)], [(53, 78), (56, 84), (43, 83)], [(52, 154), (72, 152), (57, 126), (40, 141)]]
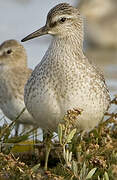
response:
[[(111, 104), (117, 105), (117, 97)], [(46, 172), (41, 161), (45, 154), (43, 142), (38, 141), (37, 144), (30, 140), (31, 148), (28, 147), (25, 153), (20, 152), (21, 144), (27, 146), (28, 136), (32, 131), (19, 137), (11, 137), (12, 126), (1, 127), (0, 179), (116, 180), (117, 113), (107, 112), (107, 120), (98, 127), (89, 133), (78, 133), (74, 124), (80, 113), (82, 110), (69, 110), (64, 116), (64, 123), (58, 125), (59, 142), (53, 141), (49, 158), (53, 165), (49, 163), (49, 170)], [(19, 152), (16, 153), (13, 149), (17, 149), (18, 145)]]

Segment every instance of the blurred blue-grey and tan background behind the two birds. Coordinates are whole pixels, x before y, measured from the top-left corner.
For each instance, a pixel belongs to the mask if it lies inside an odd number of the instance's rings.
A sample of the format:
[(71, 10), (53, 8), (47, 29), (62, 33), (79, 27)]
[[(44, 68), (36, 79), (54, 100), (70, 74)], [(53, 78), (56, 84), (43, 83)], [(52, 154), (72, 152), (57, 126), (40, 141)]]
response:
[[(84, 17), (84, 51), (103, 71), (111, 97), (117, 94), (117, 0), (0, 0), (0, 43), (21, 40), (45, 24), (48, 11), (58, 3), (77, 7)], [(42, 59), (51, 37), (23, 43), (28, 66)]]

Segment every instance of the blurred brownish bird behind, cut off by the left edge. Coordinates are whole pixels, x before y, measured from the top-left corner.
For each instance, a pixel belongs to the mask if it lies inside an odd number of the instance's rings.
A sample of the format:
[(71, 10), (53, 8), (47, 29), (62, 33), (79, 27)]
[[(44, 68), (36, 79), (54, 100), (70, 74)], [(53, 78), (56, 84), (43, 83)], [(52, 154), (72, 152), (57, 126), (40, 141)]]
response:
[[(24, 47), (16, 40), (8, 40), (0, 45), (0, 108), (10, 120), (15, 120), (24, 104), (24, 85), (32, 70), (27, 67)], [(18, 124), (34, 124), (27, 110), (17, 121)]]

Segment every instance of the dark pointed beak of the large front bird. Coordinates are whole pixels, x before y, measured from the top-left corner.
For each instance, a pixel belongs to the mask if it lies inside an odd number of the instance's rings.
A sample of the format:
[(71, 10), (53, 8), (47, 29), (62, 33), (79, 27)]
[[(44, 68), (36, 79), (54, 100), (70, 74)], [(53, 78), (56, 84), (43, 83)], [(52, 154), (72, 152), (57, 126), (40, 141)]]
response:
[(37, 31), (29, 34), (24, 39), (21, 40), (21, 42), (28, 41), (30, 39), (36, 38), (38, 36), (43, 36), (45, 34), (48, 34), (48, 27), (45, 25), (42, 28), (38, 29)]

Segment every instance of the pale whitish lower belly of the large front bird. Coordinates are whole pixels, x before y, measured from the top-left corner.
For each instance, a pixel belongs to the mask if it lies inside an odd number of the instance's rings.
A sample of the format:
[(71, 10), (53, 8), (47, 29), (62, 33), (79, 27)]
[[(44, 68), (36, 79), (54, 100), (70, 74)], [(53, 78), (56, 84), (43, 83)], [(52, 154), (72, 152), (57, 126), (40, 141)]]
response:
[[(34, 93), (34, 92), (33, 92)], [(81, 109), (82, 113), (77, 117), (76, 127), (78, 130), (93, 129), (102, 120), (103, 104), (98, 104), (98, 100), (89, 100), (87, 96), (69, 92), (69, 95), (56, 95), (54, 91), (49, 89), (43, 95), (37, 95), (30, 99), (27, 103), (29, 112), (36, 119), (37, 124), (43, 129), (52, 131), (57, 130), (59, 122), (63, 122), (64, 115), (67, 110)]]

